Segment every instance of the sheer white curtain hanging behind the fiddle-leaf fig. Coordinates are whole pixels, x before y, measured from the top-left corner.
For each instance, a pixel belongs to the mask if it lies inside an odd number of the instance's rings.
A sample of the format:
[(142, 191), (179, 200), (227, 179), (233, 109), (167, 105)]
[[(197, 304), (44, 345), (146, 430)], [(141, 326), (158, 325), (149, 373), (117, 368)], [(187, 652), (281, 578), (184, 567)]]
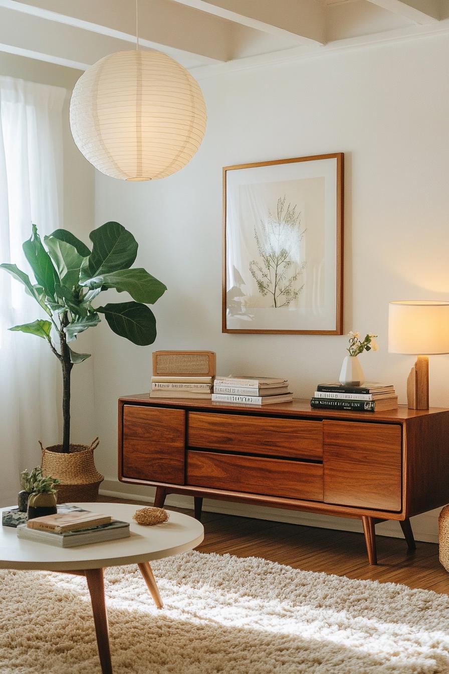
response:
[[(22, 252), (31, 224), (63, 226), (63, 104), (68, 92), (0, 77), (0, 262), (31, 274)], [(48, 344), (7, 328), (44, 317), (24, 286), (0, 270), (0, 503), (18, 474), (40, 463), (38, 439), (59, 441), (59, 363)]]

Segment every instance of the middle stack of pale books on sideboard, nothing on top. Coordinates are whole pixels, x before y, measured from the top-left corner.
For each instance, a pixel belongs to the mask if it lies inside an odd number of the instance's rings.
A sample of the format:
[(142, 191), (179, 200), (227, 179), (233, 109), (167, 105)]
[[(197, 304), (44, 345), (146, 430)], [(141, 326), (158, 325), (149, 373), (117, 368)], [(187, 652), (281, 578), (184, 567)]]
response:
[(273, 377), (215, 377), (212, 400), (248, 405), (269, 405), (290, 402), (287, 379)]

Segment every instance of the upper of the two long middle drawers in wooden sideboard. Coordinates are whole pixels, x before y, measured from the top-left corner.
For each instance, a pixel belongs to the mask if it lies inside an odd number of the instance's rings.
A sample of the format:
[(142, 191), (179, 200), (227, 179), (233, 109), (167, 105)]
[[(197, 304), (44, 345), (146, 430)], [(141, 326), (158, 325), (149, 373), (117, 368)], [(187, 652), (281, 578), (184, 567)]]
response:
[(188, 413), (189, 447), (322, 459), (322, 422), (245, 415)]

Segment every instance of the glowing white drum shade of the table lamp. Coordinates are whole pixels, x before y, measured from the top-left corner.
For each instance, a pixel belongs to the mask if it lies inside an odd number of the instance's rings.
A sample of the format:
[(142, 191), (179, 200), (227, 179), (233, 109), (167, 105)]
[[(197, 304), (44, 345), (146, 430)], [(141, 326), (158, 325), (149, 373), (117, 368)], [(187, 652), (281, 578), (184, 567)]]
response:
[(388, 351), (423, 356), (449, 353), (449, 302), (390, 302)]

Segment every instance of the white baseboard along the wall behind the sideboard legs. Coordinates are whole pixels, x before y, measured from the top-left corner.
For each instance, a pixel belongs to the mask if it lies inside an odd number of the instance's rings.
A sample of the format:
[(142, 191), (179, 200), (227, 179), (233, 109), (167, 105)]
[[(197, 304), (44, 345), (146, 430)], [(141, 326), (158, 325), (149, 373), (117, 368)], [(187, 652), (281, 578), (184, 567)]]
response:
[[(154, 487), (141, 487), (140, 485), (128, 485), (118, 480), (105, 480), (100, 489), (100, 494), (114, 498), (125, 498), (133, 501), (145, 501), (153, 503)], [(193, 497), (182, 494), (169, 494), (166, 499), (167, 505), (174, 508), (190, 508), (193, 510)], [(267, 508), (265, 505), (251, 505), (248, 503), (234, 503), (232, 501), (218, 501), (204, 499), (203, 510), (219, 512), (226, 515), (251, 517), (257, 520), (271, 520), (273, 522), (287, 522), (289, 524), (302, 524), (304, 526), (318, 526), (325, 529), (337, 529), (341, 531), (361, 532), (361, 521), (320, 515), (314, 512), (300, 512), (298, 510), (282, 510), (281, 508)], [(438, 543), (438, 514), (440, 510), (431, 510), (423, 515), (411, 519), (413, 533), (417, 541), (425, 543)], [(399, 522), (382, 522), (376, 526), (376, 533), (380, 536), (403, 538)]]

